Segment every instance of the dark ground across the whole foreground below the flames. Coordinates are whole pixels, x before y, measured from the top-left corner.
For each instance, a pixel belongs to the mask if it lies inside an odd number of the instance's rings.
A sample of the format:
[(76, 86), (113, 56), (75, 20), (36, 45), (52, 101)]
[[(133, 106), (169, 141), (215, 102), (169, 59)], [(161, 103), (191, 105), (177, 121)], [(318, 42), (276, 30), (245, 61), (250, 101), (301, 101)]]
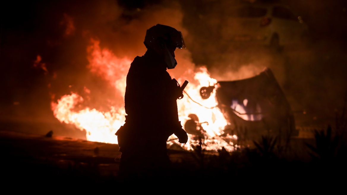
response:
[[(0, 130), (4, 186), (105, 190), (125, 185), (118, 178), (117, 144), (49, 135), (49, 132), (43, 136)], [(173, 167), (167, 178), (157, 184), (146, 180), (135, 184), (147, 187), (206, 184), (219, 186), (221, 190), (234, 185), (276, 185), (291, 189), (311, 188), (311, 184), (338, 187), (345, 181), (345, 161), (335, 155), (311, 159), (306, 144), (314, 143), (314, 139), (293, 138), (289, 152), (283, 150), (281, 154), (261, 143), (258, 149), (263, 151), (244, 147), (232, 153), (189, 152), (173, 146), (169, 148)]]

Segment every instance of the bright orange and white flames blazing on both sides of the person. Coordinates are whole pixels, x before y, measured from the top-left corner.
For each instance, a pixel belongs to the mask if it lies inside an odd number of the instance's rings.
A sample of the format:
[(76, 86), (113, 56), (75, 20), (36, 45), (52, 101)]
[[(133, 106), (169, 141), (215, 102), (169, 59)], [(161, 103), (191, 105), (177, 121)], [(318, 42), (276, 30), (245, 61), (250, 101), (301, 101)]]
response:
[[(124, 97), (126, 75), (131, 60), (127, 58), (119, 59), (110, 50), (101, 49), (99, 41), (95, 39), (91, 39), (87, 52), (90, 71), (107, 80), (110, 85), (115, 87), (117, 93)], [(199, 121), (197, 122), (204, 129), (203, 143), (195, 140), (193, 135), (188, 134), (187, 144), (180, 144), (175, 135), (169, 137), (168, 144), (178, 144), (186, 150), (194, 150), (194, 146), (202, 145), (204, 150), (220, 150), (224, 147), (227, 151), (233, 151), (237, 147), (233, 143), (237, 137), (235, 135), (223, 135), (224, 137), (221, 137), (228, 122), (217, 108), (215, 93), (211, 93), (211, 97), (205, 100), (200, 96), (199, 90), (201, 87), (214, 86), (217, 80), (211, 78), (205, 68), (200, 68), (200, 71), (196, 73), (192, 71), (192, 74), (194, 74), (195, 82), (188, 80), (189, 84), (184, 90), (184, 97), (177, 100), (178, 115), (183, 128), (185, 122), (191, 119), (188, 115), (193, 113), (198, 117)], [(180, 84), (185, 80), (185, 78), (176, 79)], [(87, 88), (85, 88), (85, 91), (91, 93)], [(73, 124), (78, 129), (85, 130), (88, 141), (117, 144), (115, 133), (125, 122), (124, 104), (122, 107), (113, 106), (108, 112), (90, 108), (77, 109), (77, 105), (83, 101), (84, 98), (77, 93), (62, 96), (57, 102), (53, 101), (51, 103), (54, 116), (60, 122)], [(155, 116), (153, 116), (153, 121), (154, 119)]]

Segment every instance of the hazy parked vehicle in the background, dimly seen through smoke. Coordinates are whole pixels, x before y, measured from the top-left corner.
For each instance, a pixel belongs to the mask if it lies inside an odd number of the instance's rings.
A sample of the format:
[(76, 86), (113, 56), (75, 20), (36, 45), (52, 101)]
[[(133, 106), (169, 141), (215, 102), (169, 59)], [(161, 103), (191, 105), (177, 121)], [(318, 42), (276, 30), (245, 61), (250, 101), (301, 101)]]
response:
[(235, 46), (254, 43), (280, 50), (303, 43), (308, 27), (288, 6), (278, 3), (240, 3), (225, 13), (221, 36)]

